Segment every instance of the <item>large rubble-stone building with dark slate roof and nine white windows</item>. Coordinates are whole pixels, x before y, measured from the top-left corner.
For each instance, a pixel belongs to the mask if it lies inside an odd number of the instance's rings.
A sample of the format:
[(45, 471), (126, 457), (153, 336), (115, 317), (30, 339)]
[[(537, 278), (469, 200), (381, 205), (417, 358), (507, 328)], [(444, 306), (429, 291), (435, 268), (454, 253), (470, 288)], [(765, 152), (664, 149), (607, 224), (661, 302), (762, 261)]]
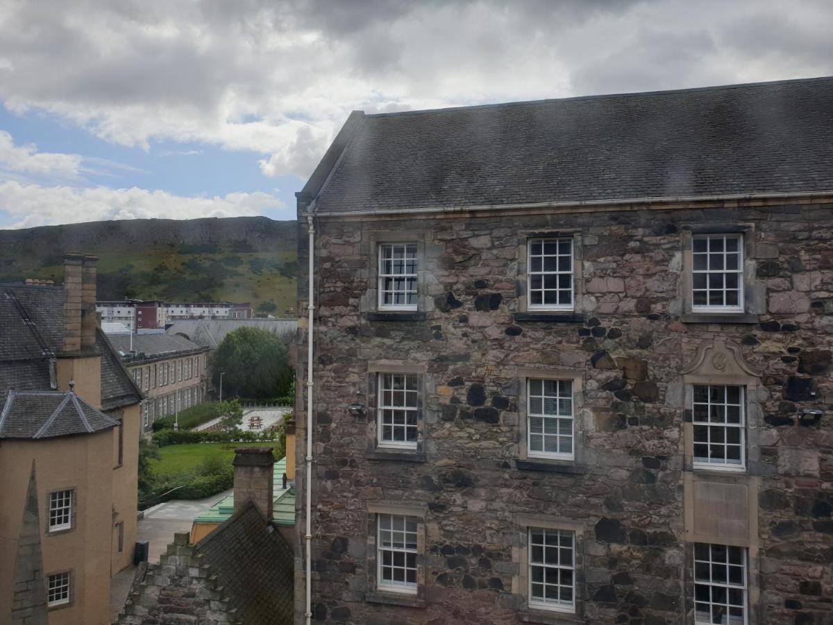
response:
[(831, 111), (353, 112), (298, 194), (312, 619), (833, 622)]

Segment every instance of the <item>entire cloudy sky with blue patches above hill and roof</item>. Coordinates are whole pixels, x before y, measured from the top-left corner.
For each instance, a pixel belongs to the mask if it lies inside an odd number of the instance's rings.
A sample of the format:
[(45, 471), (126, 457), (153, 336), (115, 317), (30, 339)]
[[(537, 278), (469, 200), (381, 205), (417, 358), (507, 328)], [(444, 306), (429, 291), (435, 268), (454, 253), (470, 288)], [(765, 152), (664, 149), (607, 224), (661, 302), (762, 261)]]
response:
[(829, 0), (0, 0), (0, 228), (294, 217), (353, 109), (833, 74)]

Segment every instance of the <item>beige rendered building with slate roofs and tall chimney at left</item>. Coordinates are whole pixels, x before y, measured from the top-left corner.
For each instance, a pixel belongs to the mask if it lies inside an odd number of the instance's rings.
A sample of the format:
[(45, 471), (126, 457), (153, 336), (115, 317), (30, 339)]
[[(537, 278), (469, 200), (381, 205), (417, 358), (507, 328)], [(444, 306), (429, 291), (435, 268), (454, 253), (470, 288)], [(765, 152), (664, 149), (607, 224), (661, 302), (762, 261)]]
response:
[(110, 622), (137, 532), (139, 402), (97, 328), (96, 258), (0, 285), (0, 622)]

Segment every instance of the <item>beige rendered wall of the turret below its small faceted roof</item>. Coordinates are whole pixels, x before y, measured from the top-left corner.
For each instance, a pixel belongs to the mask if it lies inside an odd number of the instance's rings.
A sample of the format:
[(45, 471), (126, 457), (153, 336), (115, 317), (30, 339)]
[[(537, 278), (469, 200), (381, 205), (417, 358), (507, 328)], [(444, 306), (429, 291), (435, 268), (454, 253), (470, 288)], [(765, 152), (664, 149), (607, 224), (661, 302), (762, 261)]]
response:
[[(0, 615), (11, 607), (14, 553), (34, 459), (44, 572), (72, 571), (72, 602), (50, 611), (50, 625), (109, 622), (111, 449), (109, 430), (53, 440), (2, 442), (0, 475), (5, 505), (0, 506)], [(75, 525), (67, 532), (47, 536), (49, 493), (68, 488), (77, 494)]]

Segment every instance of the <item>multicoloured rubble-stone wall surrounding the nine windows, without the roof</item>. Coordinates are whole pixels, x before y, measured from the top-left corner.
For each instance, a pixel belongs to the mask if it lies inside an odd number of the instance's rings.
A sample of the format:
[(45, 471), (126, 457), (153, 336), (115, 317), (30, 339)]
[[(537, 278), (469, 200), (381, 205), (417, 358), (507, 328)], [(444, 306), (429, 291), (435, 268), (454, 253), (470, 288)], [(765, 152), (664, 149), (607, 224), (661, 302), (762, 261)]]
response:
[[(716, 338), (762, 372), (750, 411), (751, 620), (830, 623), (833, 596), (833, 205), (317, 222), (313, 603), (318, 622), (511, 623), (524, 598), (519, 515), (582, 528), (576, 622), (687, 622), (681, 371)], [(746, 323), (684, 323), (683, 235), (746, 228)], [(371, 321), (374, 233), (424, 245), (424, 321)], [(519, 250), (530, 233), (581, 233), (581, 314), (522, 321)], [(401, 239), (400, 239), (401, 240)], [(424, 242), (424, 243), (422, 243)], [(306, 262), (306, 232), (299, 238)], [(306, 276), (298, 278), (306, 309)], [(370, 295), (368, 295), (370, 291)], [(750, 312), (747, 310), (747, 312)], [(370, 315), (372, 318), (372, 314)], [(707, 319), (701, 319), (707, 322)], [(299, 333), (305, 354), (306, 325)], [(305, 358), (300, 358), (305, 361)], [(424, 462), (368, 458), (371, 363), (422, 366)], [(305, 362), (299, 379), (306, 377)], [(523, 368), (579, 372), (584, 461), (519, 468)], [(306, 388), (298, 384), (298, 427)], [(298, 458), (304, 458), (299, 429)], [(689, 459), (690, 460), (690, 459)], [(523, 466), (522, 463), (520, 465)], [(298, 465), (303, 483), (303, 463)], [(299, 490), (298, 527), (304, 522)], [(424, 506), (425, 605), (369, 602), (368, 503)], [(513, 555), (514, 553), (514, 555)], [(297, 559), (298, 572), (303, 562)], [(296, 584), (297, 617), (302, 582)], [(688, 617), (691, 619), (691, 617)], [(545, 622), (545, 621), (535, 621)], [(561, 621), (559, 621), (561, 622)]]

